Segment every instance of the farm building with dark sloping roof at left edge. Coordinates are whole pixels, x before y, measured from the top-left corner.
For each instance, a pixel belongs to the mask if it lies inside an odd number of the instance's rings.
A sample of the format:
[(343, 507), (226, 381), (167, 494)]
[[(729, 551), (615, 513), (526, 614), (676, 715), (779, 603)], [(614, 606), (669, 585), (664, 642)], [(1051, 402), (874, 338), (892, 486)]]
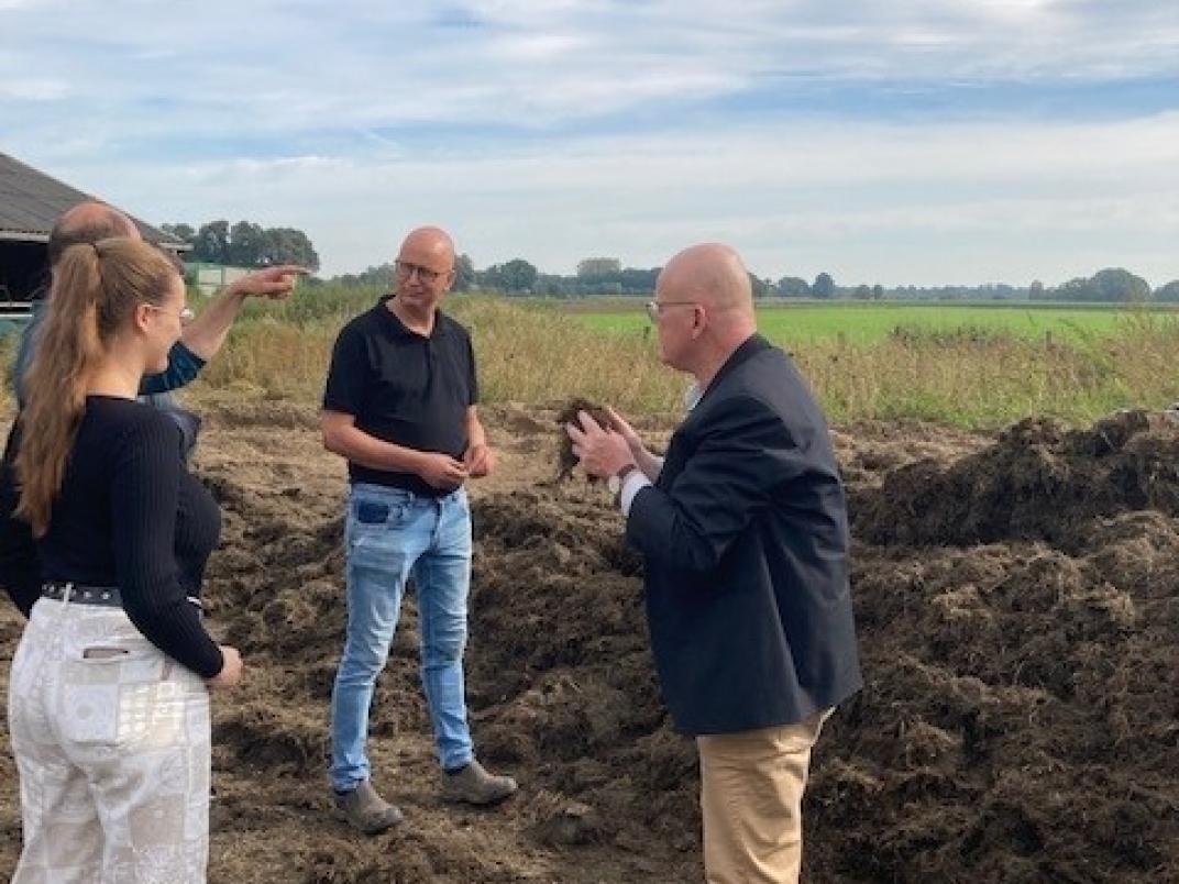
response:
[[(28, 302), (45, 283), (53, 222), (67, 209), (93, 199), (100, 198), (0, 153), (0, 311), (28, 310)], [(144, 239), (173, 252), (189, 250), (186, 243), (129, 217)]]

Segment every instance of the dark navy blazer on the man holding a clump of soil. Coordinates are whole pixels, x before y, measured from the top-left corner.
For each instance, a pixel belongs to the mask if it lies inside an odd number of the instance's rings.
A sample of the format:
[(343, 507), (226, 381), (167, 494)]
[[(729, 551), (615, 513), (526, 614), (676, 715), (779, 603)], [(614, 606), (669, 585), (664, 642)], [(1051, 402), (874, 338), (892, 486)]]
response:
[(651, 642), (678, 730), (792, 724), (862, 686), (826, 421), (765, 338), (737, 349), (672, 436), (626, 537), (646, 559)]

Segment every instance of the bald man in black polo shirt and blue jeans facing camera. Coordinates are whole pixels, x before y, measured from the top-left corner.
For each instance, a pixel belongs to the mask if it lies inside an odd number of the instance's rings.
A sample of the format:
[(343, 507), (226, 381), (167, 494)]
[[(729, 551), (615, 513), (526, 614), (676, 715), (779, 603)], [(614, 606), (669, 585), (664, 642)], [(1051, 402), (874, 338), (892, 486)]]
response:
[(344, 818), (365, 833), (401, 811), (370, 784), (369, 707), (413, 574), (422, 636), (422, 685), (448, 800), (494, 804), (511, 777), (474, 756), (462, 652), (470, 585), (470, 512), (463, 483), (495, 456), (475, 409), (479, 388), (467, 330), (439, 311), (454, 283), (454, 243), (420, 227), (397, 256), (397, 289), (344, 326), (323, 397), (323, 444), (348, 459), (351, 493), (348, 634), (331, 695), (331, 785)]

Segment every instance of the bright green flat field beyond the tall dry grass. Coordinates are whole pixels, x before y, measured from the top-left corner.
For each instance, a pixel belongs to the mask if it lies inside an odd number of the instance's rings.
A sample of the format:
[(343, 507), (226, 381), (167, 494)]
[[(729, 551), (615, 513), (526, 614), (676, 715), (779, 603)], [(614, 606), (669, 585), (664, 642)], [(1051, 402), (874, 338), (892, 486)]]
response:
[[(575, 311), (579, 322), (595, 331), (644, 334), (650, 325), (641, 304), (618, 301), (599, 311)], [(1179, 323), (1175, 311), (1093, 309), (1046, 305), (942, 305), (942, 304), (775, 304), (758, 310), (758, 324), (766, 337), (785, 344), (838, 341), (870, 344), (888, 337), (944, 336), (1091, 341), (1108, 337), (1127, 324)]]

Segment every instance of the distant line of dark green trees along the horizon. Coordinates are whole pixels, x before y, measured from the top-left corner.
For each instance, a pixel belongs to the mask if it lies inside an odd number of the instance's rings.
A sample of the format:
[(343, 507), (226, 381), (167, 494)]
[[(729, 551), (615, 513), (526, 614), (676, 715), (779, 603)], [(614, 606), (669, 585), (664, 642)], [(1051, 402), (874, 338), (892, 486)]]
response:
[[(262, 227), (241, 220), (230, 225), (215, 220), (193, 229), (189, 224), (165, 224), (163, 230), (192, 246), (190, 262), (209, 262), (257, 268), (270, 264), (302, 264), (317, 270), (320, 256), (310, 238), (294, 227)], [(455, 259), (455, 291), (488, 290), (507, 295), (545, 295), (559, 298), (650, 297), (661, 268), (628, 268), (612, 257), (591, 257), (578, 263), (571, 276), (542, 273), (523, 258), (476, 269), (469, 255)], [(360, 273), (343, 273), (329, 282), (342, 285), (393, 288), (393, 263), (370, 266)], [(1007, 284), (884, 286), (841, 285), (828, 272), (812, 281), (799, 276), (778, 279), (750, 273), (758, 298), (814, 298), (817, 301), (1058, 301), (1069, 303), (1179, 303), (1179, 279), (1151, 290), (1140, 276), (1124, 268), (1105, 268), (1091, 277), (1075, 277), (1046, 286), (1039, 279), (1026, 286)]]

